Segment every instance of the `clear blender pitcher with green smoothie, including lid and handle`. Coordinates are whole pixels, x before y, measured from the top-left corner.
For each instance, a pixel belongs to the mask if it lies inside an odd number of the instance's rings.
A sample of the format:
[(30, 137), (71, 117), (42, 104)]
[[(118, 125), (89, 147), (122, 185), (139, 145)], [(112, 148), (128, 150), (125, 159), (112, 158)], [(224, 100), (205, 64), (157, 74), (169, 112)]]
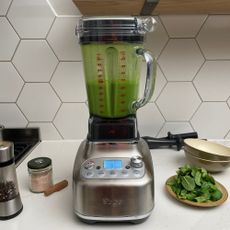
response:
[[(77, 34), (81, 44), (91, 116), (123, 118), (136, 113), (151, 98), (156, 63), (143, 48), (153, 31), (152, 17), (83, 17)], [(145, 89), (138, 99), (142, 60), (147, 64)]]

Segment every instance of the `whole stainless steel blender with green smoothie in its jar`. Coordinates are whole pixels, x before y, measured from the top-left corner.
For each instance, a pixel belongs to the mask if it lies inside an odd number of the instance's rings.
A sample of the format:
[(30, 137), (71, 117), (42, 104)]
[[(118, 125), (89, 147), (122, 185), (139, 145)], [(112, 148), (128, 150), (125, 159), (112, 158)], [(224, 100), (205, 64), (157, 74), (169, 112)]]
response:
[[(143, 48), (152, 17), (82, 17), (82, 49), (89, 119), (73, 170), (73, 206), (86, 223), (141, 223), (154, 207), (151, 153), (140, 138), (136, 111), (150, 100), (156, 63)], [(139, 96), (140, 70), (146, 80)]]

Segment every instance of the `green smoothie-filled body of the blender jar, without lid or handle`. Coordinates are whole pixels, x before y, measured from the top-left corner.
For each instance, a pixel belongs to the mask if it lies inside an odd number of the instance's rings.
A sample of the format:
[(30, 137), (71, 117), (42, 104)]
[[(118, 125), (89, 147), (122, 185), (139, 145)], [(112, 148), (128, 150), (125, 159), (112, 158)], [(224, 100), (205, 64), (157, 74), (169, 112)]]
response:
[(84, 72), (91, 115), (120, 118), (135, 113), (141, 58), (139, 44), (82, 45)]

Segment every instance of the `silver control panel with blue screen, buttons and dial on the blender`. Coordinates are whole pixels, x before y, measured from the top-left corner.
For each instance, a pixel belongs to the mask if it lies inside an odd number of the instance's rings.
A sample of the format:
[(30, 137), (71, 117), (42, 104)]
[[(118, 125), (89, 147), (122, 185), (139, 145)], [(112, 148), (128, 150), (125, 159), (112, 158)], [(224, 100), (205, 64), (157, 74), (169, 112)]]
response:
[(145, 174), (145, 165), (140, 156), (131, 158), (93, 158), (81, 166), (85, 179), (134, 179)]

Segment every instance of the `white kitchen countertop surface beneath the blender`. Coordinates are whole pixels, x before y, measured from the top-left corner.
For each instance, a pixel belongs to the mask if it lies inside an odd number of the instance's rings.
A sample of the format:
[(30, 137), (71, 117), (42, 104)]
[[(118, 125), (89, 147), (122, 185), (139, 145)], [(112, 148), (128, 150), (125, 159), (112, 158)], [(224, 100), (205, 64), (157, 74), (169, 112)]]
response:
[[(224, 141), (230, 146), (230, 141)], [(132, 224), (81, 223), (72, 209), (72, 170), (80, 141), (42, 141), (17, 168), (19, 191), (23, 211), (17, 217), (0, 222), (0, 230), (76, 230), (76, 229), (146, 229), (146, 230), (229, 230), (230, 198), (221, 206), (198, 209), (171, 198), (164, 184), (176, 169), (186, 163), (183, 151), (155, 149), (152, 158), (155, 171), (155, 208), (146, 222)], [(27, 162), (38, 156), (48, 156), (53, 161), (54, 183), (69, 181), (64, 190), (45, 197), (28, 189)], [(230, 169), (214, 175), (230, 191)]]

